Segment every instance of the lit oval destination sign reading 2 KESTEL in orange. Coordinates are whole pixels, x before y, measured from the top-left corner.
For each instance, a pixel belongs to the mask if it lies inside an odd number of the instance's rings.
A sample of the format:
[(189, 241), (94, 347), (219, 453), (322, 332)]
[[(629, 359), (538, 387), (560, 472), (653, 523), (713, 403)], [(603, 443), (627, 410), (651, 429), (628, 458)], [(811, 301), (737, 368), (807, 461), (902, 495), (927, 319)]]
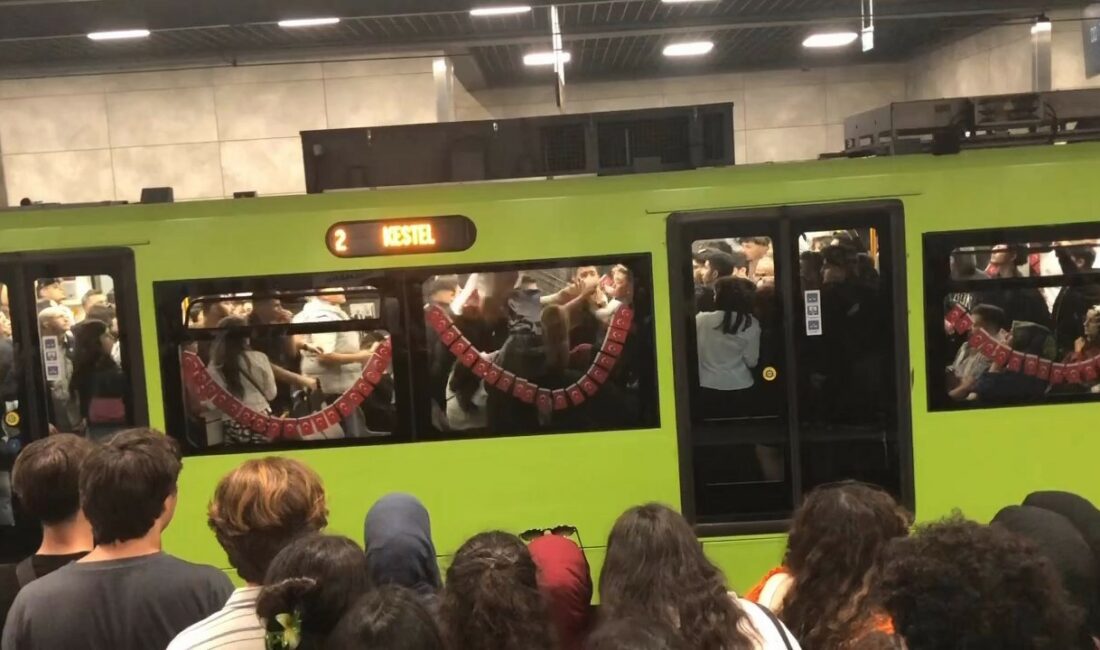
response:
[(473, 221), (460, 216), (386, 221), (344, 221), (329, 229), (326, 242), (337, 257), (465, 251), (477, 239)]

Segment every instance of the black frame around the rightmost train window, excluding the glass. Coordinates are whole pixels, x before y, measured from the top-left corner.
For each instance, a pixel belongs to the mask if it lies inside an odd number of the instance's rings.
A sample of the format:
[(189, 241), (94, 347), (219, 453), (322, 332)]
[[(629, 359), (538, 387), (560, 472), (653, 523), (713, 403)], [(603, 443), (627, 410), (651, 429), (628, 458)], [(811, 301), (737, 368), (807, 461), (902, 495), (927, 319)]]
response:
[(1077, 222), (924, 233), (922, 239), (924, 249), (924, 363), (930, 412), (1030, 408), (1100, 401), (1100, 394), (1089, 393), (1046, 395), (1035, 400), (1014, 404), (955, 401), (947, 395), (947, 383), (943, 372), (950, 361), (947, 364), (942, 363), (943, 360), (953, 360), (957, 352), (957, 350), (950, 350), (947, 338), (944, 337), (944, 321), (947, 317), (945, 298), (948, 295), (990, 287), (1044, 288), (1100, 284), (1100, 271), (1097, 269), (1089, 274), (956, 280), (952, 279), (950, 276), (950, 258), (955, 252), (968, 246), (1030, 245), (1044, 241), (1087, 239), (1100, 240), (1100, 223)]

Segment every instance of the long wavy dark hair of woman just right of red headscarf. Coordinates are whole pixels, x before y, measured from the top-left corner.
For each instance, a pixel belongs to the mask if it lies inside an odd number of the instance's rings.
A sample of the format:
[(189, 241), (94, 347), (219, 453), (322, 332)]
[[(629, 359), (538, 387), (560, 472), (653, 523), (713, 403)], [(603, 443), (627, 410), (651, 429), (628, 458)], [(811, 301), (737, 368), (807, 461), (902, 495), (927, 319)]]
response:
[(722, 571), (703, 554), (691, 525), (666, 506), (636, 506), (615, 521), (600, 595), (605, 619), (660, 620), (693, 650), (755, 647), (739, 628), (746, 615)]

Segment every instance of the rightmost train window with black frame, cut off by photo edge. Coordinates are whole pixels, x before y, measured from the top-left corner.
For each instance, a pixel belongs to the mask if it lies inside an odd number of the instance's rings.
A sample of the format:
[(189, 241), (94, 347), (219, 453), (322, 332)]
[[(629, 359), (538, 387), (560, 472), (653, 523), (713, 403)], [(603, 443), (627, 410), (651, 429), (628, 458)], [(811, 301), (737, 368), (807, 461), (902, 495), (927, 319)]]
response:
[(1100, 228), (925, 235), (928, 406), (1100, 398)]

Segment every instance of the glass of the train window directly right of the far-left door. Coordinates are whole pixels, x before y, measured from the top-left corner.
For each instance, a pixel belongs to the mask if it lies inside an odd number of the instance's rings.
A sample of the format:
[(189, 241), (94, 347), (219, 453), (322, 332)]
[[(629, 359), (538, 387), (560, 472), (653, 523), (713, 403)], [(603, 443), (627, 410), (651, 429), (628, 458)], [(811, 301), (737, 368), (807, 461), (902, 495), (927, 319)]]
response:
[(389, 332), (373, 286), (201, 296), (182, 350), (188, 438), (202, 448), (389, 436)]

